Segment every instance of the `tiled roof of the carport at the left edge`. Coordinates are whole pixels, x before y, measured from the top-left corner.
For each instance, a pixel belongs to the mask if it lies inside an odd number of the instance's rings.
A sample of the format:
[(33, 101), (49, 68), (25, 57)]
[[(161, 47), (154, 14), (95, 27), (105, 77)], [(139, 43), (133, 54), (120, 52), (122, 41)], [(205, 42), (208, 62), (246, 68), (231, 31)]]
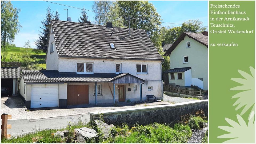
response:
[(1, 67), (1, 78), (19, 78), (19, 67)]

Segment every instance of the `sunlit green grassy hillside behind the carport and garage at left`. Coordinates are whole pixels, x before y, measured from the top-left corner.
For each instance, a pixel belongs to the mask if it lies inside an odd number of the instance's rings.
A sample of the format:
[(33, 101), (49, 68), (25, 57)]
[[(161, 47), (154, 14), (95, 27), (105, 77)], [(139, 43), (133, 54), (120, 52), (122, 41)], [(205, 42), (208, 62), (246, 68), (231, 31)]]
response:
[[(10, 47), (9, 48), (9, 53), (6, 57), (6, 61), (9, 62), (10, 56), (13, 55), (15, 59), (20, 59), (18, 58), (18, 53), (21, 53), (21, 49), (24, 49), (23, 47)], [(46, 53), (39, 53), (38, 55), (32, 51), (33, 49), (30, 50), (31, 52), (31, 57), (32, 57), (32, 63), (35, 65), (38, 65), (38, 67), (41, 67), (43, 70), (46, 69), (46, 62), (45, 62), (45, 55)], [(2, 54), (2, 53), (1, 53)]]

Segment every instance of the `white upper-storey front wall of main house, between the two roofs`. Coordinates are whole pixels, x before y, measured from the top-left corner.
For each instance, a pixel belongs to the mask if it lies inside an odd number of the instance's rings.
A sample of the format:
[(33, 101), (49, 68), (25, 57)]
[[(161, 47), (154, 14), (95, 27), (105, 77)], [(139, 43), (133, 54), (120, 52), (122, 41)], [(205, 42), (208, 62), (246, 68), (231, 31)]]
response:
[[(94, 73), (115, 73), (115, 64), (122, 63), (122, 73), (130, 73), (145, 81), (162, 81), (161, 61), (139, 61), (113, 59), (59, 58), (59, 72), (76, 72), (77, 63), (94, 63)], [(137, 74), (136, 64), (147, 64), (148, 74)]]

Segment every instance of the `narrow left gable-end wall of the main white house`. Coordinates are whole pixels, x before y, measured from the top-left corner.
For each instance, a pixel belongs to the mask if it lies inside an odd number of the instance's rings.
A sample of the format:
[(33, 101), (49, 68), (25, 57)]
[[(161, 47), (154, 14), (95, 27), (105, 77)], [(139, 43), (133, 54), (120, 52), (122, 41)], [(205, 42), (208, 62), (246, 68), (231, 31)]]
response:
[[(52, 27), (51, 27), (52, 29)], [(51, 43), (54, 42), (53, 52), (51, 53)], [(57, 70), (58, 69), (58, 53), (55, 46), (54, 36), (50, 30), (50, 38), (48, 43), (48, 51), (46, 57), (46, 70)]]

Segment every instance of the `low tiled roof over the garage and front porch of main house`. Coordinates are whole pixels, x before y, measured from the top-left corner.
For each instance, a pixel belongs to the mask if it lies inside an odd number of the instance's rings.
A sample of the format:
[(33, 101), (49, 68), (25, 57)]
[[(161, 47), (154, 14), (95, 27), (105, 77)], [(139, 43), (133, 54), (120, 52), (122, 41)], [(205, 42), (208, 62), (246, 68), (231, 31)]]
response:
[[(51, 83), (51, 82), (112, 82), (116, 79), (131, 75), (129, 73), (94, 73), (77, 74), (59, 72), (58, 70), (22, 70), (25, 83)], [(131, 75), (133, 76), (133, 75)], [(133, 76), (134, 78), (140, 79)], [(144, 81), (143, 79), (140, 79)]]

